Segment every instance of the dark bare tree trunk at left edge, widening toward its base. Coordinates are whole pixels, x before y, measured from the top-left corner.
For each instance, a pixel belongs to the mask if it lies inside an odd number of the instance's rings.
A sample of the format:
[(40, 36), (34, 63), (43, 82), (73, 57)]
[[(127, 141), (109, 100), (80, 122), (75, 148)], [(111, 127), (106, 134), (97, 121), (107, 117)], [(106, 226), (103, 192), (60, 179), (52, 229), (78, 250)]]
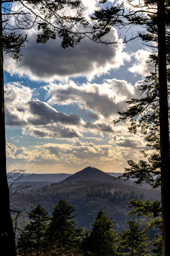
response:
[(5, 108), (4, 108), (4, 70), (3, 70), (3, 48), (2, 48), (2, 1), (0, 10), (0, 72), (1, 72), (1, 183), (2, 183), (2, 206), (1, 209), (1, 232), (0, 232), (0, 253), (1, 255), (16, 256), (15, 235), (12, 226), (10, 205), (9, 205), (9, 189), (6, 176), (6, 147), (5, 147)]

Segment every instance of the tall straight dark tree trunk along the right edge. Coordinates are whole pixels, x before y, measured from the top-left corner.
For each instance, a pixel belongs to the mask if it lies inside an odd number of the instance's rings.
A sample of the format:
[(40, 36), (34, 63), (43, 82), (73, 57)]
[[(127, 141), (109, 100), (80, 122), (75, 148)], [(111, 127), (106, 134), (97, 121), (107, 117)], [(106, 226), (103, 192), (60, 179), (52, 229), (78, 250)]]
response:
[(169, 255), (169, 124), (166, 78), (166, 35), (165, 35), (165, 1), (158, 0), (158, 69), (159, 69), (159, 119), (161, 150), (161, 205), (162, 205), (162, 237), (163, 255)]

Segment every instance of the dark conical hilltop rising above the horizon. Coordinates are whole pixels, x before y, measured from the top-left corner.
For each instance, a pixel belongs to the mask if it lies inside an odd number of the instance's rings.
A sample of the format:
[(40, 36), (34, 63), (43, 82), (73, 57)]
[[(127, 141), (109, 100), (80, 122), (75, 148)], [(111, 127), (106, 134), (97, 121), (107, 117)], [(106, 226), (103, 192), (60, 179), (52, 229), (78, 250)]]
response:
[(114, 176), (102, 172), (101, 170), (88, 166), (83, 170), (71, 175), (66, 178), (64, 182), (77, 181), (77, 180), (96, 180), (101, 182), (113, 182)]

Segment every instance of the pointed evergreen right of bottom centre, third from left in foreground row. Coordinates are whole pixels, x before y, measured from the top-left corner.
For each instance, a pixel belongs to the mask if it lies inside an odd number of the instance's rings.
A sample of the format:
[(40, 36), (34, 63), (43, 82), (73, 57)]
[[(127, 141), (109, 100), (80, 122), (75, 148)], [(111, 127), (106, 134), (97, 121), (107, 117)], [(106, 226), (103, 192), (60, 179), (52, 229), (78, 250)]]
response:
[(116, 255), (118, 238), (116, 231), (113, 230), (113, 222), (101, 209), (97, 212), (96, 220), (91, 224), (93, 228), (88, 238), (90, 255)]

